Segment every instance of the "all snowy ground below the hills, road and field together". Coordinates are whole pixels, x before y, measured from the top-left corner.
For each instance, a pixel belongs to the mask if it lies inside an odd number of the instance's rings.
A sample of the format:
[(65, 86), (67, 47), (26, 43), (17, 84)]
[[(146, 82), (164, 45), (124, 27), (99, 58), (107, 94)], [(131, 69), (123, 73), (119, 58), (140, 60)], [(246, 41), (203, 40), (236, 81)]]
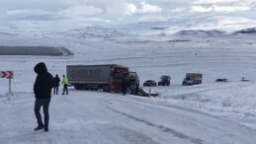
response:
[[(0, 57), (0, 70), (15, 71), (13, 96), (7, 95), (8, 80), (0, 79), (0, 143), (255, 142), (255, 36), (0, 37), (2, 45), (65, 46), (75, 54)], [(117, 63), (136, 71), (140, 84), (168, 74), (171, 86), (153, 88), (160, 97), (150, 99), (75, 90), (69, 96), (53, 96), (50, 131), (34, 132), (33, 68), (41, 61), (53, 75), (64, 74), (67, 64)], [(187, 72), (203, 73), (203, 84), (183, 87)], [(241, 82), (242, 77), (250, 81)], [(230, 82), (215, 83), (217, 78)]]

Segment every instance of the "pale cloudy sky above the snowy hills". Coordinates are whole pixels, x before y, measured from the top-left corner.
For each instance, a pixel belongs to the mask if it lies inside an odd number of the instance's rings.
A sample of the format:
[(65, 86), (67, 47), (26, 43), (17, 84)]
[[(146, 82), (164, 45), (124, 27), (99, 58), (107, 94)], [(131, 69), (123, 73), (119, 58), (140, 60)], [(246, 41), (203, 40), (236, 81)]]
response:
[(200, 15), (255, 20), (255, 14), (256, 0), (0, 0), (0, 27), (115, 25)]

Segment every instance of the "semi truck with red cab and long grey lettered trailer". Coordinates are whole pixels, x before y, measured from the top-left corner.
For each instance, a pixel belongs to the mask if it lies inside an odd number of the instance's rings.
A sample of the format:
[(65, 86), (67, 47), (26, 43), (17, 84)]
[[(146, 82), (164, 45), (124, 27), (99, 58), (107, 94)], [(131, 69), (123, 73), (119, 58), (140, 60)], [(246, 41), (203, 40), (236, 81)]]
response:
[(76, 90), (102, 89), (106, 92), (122, 91), (122, 81), (128, 77), (128, 67), (107, 65), (67, 65), (69, 84)]

